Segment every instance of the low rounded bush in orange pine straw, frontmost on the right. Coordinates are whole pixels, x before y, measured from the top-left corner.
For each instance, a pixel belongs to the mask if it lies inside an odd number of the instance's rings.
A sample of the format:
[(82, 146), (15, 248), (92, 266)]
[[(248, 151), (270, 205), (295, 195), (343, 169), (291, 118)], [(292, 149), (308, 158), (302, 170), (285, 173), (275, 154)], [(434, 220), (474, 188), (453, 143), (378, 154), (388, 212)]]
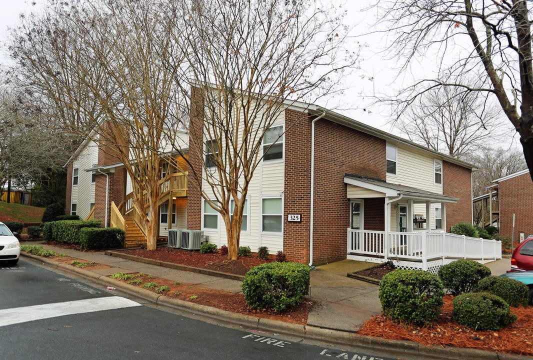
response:
[(454, 321), (474, 330), (499, 330), (516, 321), (502, 298), (486, 292), (459, 295), (453, 305)]

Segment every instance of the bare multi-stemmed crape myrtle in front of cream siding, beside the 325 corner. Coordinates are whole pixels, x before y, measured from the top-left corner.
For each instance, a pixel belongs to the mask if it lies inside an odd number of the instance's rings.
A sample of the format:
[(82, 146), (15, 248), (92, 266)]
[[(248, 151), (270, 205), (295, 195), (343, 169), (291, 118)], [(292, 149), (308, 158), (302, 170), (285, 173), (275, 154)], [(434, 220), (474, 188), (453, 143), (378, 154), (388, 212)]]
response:
[(282, 125), (284, 109), (296, 101), (340, 91), (335, 86), (356, 65), (359, 49), (346, 46), (345, 13), (318, 1), (193, 0), (168, 6), (184, 17), (174, 43), (187, 66), (169, 66), (190, 79), (182, 102), (190, 116), (189, 179), (206, 206), (220, 213), (228, 258), (235, 260), (249, 185), (289, 126), (276, 131), (273, 125)]

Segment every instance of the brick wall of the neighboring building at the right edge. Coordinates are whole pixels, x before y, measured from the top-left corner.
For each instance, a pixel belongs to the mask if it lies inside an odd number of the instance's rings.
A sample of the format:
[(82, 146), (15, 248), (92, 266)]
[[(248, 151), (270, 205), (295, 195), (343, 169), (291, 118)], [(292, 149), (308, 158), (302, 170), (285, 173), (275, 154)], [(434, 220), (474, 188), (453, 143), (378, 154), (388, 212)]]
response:
[(512, 236), (513, 214), (514, 239), (520, 241), (520, 233), (533, 234), (533, 182), (529, 173), (499, 183), (500, 234)]

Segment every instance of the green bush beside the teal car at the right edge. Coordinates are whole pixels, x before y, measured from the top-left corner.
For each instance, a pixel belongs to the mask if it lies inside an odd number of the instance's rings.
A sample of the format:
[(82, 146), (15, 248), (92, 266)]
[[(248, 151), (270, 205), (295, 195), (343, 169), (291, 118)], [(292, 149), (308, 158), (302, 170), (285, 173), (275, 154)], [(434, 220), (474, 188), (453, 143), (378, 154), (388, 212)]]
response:
[(479, 281), (478, 290), (499, 296), (512, 307), (528, 305), (529, 287), (515, 279), (487, 276)]

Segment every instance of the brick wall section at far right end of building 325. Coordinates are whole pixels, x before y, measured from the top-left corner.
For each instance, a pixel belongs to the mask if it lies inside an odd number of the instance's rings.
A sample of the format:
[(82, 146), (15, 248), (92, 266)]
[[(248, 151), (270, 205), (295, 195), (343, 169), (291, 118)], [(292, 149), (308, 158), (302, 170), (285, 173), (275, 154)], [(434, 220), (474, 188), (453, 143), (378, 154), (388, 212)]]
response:
[(446, 204), (446, 231), (458, 222), (472, 223), (472, 171), (442, 162), (442, 194), (456, 197), (456, 204)]

